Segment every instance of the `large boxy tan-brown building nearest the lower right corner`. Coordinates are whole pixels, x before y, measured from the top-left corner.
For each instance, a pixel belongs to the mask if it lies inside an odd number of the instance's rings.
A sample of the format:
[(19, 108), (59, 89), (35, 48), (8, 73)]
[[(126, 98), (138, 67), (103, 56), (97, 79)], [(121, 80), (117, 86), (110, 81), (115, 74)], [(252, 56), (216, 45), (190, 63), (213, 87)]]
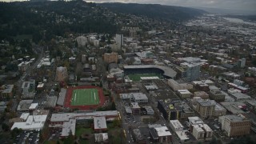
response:
[(242, 114), (225, 115), (219, 117), (219, 121), (222, 123), (222, 130), (225, 130), (229, 137), (250, 134), (251, 122)]

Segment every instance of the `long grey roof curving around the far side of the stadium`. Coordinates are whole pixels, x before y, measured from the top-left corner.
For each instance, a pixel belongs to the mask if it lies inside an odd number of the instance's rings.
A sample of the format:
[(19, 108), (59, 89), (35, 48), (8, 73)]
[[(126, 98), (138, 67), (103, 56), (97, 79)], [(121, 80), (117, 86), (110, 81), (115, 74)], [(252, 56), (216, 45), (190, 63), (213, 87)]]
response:
[(158, 66), (158, 65), (133, 65), (133, 66), (123, 66), (123, 68), (124, 69), (146, 69), (146, 68), (160, 69), (160, 70), (163, 70), (164, 72), (163, 75), (170, 78), (176, 77), (176, 74), (177, 74), (177, 72), (170, 67)]

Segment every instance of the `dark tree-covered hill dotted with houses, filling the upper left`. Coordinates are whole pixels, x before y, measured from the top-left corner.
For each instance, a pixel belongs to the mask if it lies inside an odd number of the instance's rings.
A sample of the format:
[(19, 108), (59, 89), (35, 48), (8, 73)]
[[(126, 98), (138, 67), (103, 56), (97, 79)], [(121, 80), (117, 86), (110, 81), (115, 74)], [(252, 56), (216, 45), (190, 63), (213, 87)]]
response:
[(83, 1), (0, 2), (0, 40), (32, 35), (34, 42), (65, 34), (115, 34), (106, 9)]

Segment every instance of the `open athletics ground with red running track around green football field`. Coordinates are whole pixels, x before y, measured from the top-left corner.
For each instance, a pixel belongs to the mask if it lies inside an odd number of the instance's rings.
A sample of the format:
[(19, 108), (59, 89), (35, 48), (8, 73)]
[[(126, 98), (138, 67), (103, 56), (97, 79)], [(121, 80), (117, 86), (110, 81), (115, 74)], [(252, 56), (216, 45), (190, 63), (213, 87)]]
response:
[(103, 106), (105, 97), (98, 86), (75, 86), (66, 91), (64, 106), (70, 109), (93, 110)]

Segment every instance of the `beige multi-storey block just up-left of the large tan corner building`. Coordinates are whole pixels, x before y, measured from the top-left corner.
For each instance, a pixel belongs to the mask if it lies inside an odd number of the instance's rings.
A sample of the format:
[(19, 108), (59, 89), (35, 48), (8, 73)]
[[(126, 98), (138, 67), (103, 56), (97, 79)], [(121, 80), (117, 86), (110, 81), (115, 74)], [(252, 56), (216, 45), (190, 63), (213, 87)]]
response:
[(214, 117), (216, 102), (210, 100), (197, 99), (196, 111), (201, 118)]

